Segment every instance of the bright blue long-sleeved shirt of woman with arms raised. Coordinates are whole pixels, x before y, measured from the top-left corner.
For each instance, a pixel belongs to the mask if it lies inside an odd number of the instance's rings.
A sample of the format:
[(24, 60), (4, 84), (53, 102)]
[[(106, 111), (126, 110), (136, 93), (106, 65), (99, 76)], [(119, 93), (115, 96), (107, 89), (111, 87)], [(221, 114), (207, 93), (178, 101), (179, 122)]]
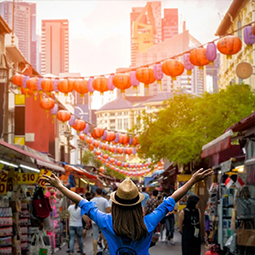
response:
[[(174, 209), (174, 206), (174, 199), (168, 197), (151, 214), (144, 216), (143, 220), (149, 234), (133, 243), (132, 247), (135, 248), (137, 255), (149, 255), (149, 247), (154, 229), (165, 215)], [(95, 202), (87, 202), (85, 199), (80, 201), (79, 207), (81, 208), (81, 215), (87, 214), (91, 220), (96, 222), (108, 242), (110, 254), (115, 255), (119, 248), (117, 245), (117, 238), (119, 237), (113, 230), (112, 215), (99, 211)]]

